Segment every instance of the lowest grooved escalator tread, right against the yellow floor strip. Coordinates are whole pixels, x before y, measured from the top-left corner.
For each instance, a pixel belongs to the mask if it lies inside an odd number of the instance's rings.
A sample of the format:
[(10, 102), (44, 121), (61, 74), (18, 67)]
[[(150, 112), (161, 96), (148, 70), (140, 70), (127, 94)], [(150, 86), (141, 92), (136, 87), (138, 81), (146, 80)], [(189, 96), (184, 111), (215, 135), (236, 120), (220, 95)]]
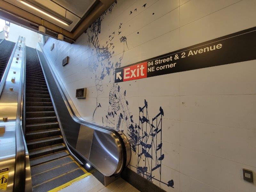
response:
[(44, 184), (33, 186), (33, 192), (46, 192), (51, 189), (54, 189), (56, 187), (59, 187), (71, 180), (76, 179), (77, 177), (80, 177), (81, 175), (84, 175), (84, 171), (80, 168), (77, 168), (76, 170), (73, 170), (71, 172), (68, 172), (66, 174), (60, 175), (59, 177), (53, 178), (52, 180), (48, 180)]

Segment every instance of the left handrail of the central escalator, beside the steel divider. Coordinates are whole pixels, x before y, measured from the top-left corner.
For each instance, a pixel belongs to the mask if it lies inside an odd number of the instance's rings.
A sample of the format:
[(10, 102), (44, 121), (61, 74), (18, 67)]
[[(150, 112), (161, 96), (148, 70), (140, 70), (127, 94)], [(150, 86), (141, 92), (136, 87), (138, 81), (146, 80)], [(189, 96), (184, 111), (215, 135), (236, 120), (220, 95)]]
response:
[[(21, 118), (22, 118), (22, 105), (23, 105), (23, 77), (24, 77), (24, 60), (25, 60), (25, 37), (24, 49), (22, 53), (22, 62), (20, 69), (20, 85), (19, 85), (19, 97), (17, 104), (16, 115), (16, 156), (15, 156), (15, 168), (13, 176), (13, 191), (25, 191), (25, 161), (26, 161), (26, 141), (22, 131)], [(15, 48), (16, 49), (16, 48)], [(14, 50), (15, 50), (14, 49)]]

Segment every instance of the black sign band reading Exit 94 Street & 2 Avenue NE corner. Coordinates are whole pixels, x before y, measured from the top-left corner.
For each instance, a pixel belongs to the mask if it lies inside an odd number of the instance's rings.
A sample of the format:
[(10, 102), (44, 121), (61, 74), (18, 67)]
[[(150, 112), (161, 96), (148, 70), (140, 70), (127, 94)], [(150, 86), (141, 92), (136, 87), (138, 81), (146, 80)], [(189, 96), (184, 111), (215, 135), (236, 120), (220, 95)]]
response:
[(115, 83), (256, 59), (256, 27), (115, 70)]

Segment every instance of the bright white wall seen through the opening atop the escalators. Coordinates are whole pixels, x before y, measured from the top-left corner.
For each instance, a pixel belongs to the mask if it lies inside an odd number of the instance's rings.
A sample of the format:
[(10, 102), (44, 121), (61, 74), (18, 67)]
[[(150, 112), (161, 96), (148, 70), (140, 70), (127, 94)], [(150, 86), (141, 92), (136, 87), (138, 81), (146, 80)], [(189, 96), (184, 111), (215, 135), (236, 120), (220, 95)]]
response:
[[(38, 35), (43, 37), (41, 34), (38, 34)], [(18, 37), (23, 36), (26, 38), (26, 46), (36, 48), (37, 42), (39, 41), (38, 35), (34, 31), (31, 31), (27, 28), (10, 23), (8, 41), (12, 41), (16, 43), (18, 40)]]

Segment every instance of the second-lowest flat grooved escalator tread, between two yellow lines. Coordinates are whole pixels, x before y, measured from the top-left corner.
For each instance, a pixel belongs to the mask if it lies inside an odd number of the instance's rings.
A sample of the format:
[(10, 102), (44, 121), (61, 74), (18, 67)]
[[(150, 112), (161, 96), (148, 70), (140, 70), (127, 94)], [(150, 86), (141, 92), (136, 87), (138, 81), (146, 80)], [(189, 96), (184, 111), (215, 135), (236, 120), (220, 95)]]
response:
[(34, 176), (32, 176), (32, 185), (33, 186), (40, 185), (47, 180), (51, 180), (55, 177), (58, 177), (62, 174), (65, 174), (65, 173), (75, 170), (77, 168), (79, 168), (79, 166), (74, 161), (72, 161), (72, 162), (64, 164), (60, 167), (56, 167), (55, 169), (34, 175)]

